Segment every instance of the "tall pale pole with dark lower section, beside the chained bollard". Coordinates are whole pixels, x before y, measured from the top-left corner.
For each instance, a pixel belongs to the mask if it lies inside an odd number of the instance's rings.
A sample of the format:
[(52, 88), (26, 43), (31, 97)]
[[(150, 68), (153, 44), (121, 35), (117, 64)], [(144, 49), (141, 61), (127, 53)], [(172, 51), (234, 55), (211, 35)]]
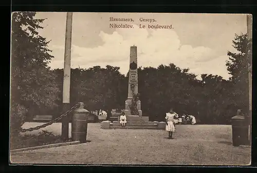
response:
[[(70, 57), (71, 57), (71, 33), (72, 33), (72, 12), (67, 12), (65, 50), (64, 50), (64, 69), (63, 69), (63, 112), (69, 110), (70, 97)], [(68, 139), (69, 136), (69, 117), (62, 119), (62, 138)]]

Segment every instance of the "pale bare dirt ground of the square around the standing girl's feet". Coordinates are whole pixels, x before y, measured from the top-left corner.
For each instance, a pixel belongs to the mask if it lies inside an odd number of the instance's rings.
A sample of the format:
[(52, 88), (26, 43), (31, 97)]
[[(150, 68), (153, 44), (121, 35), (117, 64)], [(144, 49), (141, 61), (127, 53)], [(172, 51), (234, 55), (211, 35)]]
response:
[[(25, 123), (24, 128), (41, 123)], [(43, 130), (61, 134), (61, 123)], [(38, 133), (32, 131), (29, 133)], [(70, 129), (69, 129), (70, 135)], [(165, 130), (101, 129), (88, 124), (91, 142), (13, 153), (11, 163), (248, 165), (251, 148), (232, 146), (229, 125), (177, 125), (174, 139)]]

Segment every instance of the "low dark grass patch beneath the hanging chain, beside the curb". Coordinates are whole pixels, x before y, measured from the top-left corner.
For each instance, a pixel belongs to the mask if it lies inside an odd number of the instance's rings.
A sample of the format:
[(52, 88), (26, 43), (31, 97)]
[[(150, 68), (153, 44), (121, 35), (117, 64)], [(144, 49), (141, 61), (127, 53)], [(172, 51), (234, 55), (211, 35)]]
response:
[(24, 136), (11, 137), (10, 148), (20, 149), (63, 142), (71, 142), (71, 139), (63, 140), (61, 135), (54, 135), (52, 132), (42, 130), (38, 135), (25, 134)]

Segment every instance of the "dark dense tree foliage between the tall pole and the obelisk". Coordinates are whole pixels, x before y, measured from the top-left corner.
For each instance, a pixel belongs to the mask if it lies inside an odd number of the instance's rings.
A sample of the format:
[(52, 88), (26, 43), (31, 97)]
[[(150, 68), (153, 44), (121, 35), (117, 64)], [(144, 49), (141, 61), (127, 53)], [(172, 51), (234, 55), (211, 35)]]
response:
[[(63, 69), (56, 69), (58, 84), (62, 89)], [(71, 69), (70, 104), (83, 102), (88, 110), (123, 108), (127, 82), (119, 67), (95, 66), (89, 69)], [(61, 95), (59, 95), (61, 97)]]

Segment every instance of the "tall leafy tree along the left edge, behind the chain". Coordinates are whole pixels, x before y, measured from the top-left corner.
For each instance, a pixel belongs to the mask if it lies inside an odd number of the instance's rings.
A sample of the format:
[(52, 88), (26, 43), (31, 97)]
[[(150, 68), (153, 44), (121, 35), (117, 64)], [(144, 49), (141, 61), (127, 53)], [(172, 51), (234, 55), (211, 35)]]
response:
[[(15, 12), (12, 14), (11, 28), (11, 123), (15, 117), (17, 105), (29, 113), (56, 106), (60, 91), (55, 75), (48, 67), (52, 59), (46, 38), (39, 35), (45, 19), (36, 19), (35, 12)], [(16, 110), (16, 111), (15, 111)], [(37, 112), (40, 113), (40, 112)], [(12, 118), (11, 117), (11, 118)], [(22, 124), (21, 122), (18, 124)], [(15, 127), (17, 128), (17, 127)]]

